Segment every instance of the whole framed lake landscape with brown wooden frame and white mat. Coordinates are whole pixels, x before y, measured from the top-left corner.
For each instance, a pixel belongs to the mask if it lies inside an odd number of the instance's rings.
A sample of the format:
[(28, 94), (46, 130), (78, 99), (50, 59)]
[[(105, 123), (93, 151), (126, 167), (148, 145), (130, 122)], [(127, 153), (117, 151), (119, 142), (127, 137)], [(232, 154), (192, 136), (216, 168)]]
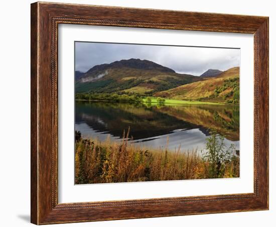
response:
[(268, 18), (31, 5), (31, 222), (268, 209)]

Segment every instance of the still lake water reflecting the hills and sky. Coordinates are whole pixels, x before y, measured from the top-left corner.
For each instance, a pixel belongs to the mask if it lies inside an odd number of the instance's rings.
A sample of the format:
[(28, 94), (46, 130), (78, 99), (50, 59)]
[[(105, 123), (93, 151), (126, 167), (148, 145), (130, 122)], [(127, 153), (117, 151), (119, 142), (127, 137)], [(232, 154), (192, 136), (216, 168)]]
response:
[[(227, 147), (239, 150), (239, 106), (145, 105), (100, 101), (76, 101), (75, 130), (84, 138), (121, 140), (129, 132), (130, 143), (141, 147), (204, 150), (209, 131), (225, 136)], [(169, 143), (167, 143), (169, 141)]]

